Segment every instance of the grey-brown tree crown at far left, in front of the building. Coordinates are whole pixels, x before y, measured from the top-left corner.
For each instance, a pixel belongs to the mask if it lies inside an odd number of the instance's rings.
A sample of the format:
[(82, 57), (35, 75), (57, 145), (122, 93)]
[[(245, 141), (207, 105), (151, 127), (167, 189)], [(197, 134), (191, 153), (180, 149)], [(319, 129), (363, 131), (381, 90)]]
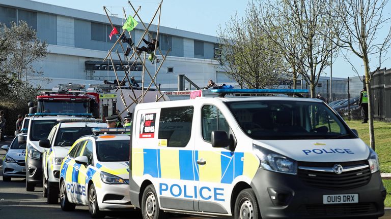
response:
[(39, 41), (36, 31), (26, 22), (20, 21), (19, 25), (12, 22), (11, 27), (3, 24), (0, 28), (0, 44), (6, 48), (0, 48), (2, 72), (12, 72), (17, 80), (25, 81), (29, 80), (27, 76), (42, 75), (42, 71), (37, 71), (32, 64), (47, 55), (47, 43)]

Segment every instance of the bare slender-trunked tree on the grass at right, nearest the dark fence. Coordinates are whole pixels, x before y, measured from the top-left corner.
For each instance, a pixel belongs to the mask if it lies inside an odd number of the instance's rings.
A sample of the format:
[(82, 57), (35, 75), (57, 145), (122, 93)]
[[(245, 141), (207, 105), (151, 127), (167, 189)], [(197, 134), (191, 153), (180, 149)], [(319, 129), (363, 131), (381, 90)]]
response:
[(378, 56), (379, 65), (376, 70), (380, 69), (381, 59), (389, 48), (390, 27), (388, 27), (385, 37), (379, 40), (379, 30), (390, 19), (383, 14), (387, 3), (388, 1), (383, 0), (335, 0), (330, 4), (331, 7), (328, 10), (329, 14), (335, 14), (334, 20), (342, 21), (342, 23), (332, 23), (333, 31), (338, 39), (338, 41), (334, 41), (334, 44), (351, 51), (364, 64), (365, 84), (368, 92), (369, 138), (372, 149), (375, 149), (375, 134), (370, 85), (370, 59), (373, 56)]

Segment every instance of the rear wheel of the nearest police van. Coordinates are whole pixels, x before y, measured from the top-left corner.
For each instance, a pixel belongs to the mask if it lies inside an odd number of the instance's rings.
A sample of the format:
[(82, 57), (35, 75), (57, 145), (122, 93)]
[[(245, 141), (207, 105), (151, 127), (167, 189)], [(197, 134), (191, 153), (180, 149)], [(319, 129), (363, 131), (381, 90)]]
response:
[(143, 219), (161, 219), (164, 218), (164, 212), (159, 208), (159, 200), (153, 185), (145, 188), (141, 203), (141, 213)]

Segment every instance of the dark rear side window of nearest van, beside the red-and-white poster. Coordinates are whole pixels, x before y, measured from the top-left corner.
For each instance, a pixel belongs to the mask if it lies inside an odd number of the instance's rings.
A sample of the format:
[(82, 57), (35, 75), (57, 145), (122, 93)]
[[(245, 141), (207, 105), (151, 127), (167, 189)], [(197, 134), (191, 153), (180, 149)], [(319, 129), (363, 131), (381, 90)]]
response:
[(159, 139), (167, 139), (167, 147), (183, 148), (190, 140), (193, 106), (161, 108)]

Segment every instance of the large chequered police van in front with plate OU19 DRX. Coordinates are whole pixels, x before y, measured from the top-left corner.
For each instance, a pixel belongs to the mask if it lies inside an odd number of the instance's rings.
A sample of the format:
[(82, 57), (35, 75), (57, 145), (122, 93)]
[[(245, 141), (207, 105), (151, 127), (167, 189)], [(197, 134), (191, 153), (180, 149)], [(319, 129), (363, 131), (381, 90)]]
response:
[(376, 153), (326, 103), (212, 92), (220, 97), (136, 105), (129, 185), (143, 218), (384, 214)]

